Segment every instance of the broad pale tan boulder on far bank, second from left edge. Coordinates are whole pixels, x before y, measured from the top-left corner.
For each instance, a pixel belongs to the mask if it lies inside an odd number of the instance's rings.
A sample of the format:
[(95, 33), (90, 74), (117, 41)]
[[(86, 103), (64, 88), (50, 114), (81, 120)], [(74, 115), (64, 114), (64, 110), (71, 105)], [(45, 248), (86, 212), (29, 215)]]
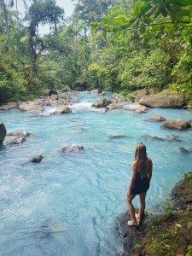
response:
[(41, 113), (44, 111), (43, 108), (44, 102), (42, 100), (21, 102), (19, 109), (22, 111), (29, 111), (32, 113)]

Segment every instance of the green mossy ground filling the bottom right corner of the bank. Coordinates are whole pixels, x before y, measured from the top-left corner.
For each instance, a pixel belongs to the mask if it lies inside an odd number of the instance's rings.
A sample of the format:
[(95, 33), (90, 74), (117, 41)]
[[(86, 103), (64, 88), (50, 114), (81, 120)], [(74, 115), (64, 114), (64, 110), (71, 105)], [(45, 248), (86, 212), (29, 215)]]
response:
[(172, 220), (164, 215), (155, 217), (142, 241), (133, 248), (132, 255), (143, 251), (145, 255), (153, 256), (178, 256), (187, 252), (186, 255), (191, 256), (191, 219), (192, 212), (177, 212)]

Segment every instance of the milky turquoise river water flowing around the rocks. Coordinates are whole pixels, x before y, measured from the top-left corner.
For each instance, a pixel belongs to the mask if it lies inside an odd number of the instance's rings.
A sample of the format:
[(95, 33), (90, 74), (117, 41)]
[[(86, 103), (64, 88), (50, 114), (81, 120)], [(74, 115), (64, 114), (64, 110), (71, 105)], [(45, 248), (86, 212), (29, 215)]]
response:
[[(147, 209), (164, 201), (183, 172), (191, 171), (192, 130), (170, 131), (149, 116), (192, 119), (181, 109), (153, 108), (137, 114), (90, 108), (98, 96), (74, 96), (73, 113), (32, 116), (11, 110), (0, 113), (7, 131), (32, 133), (25, 143), (0, 149), (0, 255), (115, 255), (121, 250), (115, 218), (126, 211), (125, 192), (137, 142), (143, 142), (154, 162)], [(178, 135), (181, 141), (151, 141), (145, 135)], [(118, 137), (115, 137), (118, 136)], [(121, 136), (121, 137), (120, 137)], [(61, 155), (72, 143), (79, 154)], [(38, 164), (23, 165), (42, 154)], [(134, 201), (135, 206), (138, 200)]]

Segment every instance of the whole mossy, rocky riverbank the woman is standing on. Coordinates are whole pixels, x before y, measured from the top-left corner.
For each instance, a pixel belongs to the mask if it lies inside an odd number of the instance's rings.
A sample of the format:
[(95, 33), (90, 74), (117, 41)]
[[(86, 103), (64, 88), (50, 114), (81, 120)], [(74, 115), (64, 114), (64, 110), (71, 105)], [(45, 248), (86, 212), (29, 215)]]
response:
[(127, 212), (118, 218), (122, 255), (192, 255), (192, 172), (172, 189), (164, 212), (148, 214), (137, 228), (126, 226)]

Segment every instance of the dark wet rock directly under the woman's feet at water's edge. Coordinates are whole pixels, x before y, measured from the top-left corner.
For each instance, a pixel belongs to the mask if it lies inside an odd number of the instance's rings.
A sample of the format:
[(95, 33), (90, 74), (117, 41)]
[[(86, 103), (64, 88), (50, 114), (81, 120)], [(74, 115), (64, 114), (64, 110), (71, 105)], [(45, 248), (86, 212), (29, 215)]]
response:
[(145, 218), (143, 224), (137, 227), (128, 226), (127, 221), (129, 220), (128, 212), (119, 214), (116, 218), (116, 230), (119, 232), (119, 236), (123, 242), (124, 252), (122, 255), (131, 255), (131, 249), (134, 247), (143, 237), (148, 224), (150, 223), (150, 218)]

